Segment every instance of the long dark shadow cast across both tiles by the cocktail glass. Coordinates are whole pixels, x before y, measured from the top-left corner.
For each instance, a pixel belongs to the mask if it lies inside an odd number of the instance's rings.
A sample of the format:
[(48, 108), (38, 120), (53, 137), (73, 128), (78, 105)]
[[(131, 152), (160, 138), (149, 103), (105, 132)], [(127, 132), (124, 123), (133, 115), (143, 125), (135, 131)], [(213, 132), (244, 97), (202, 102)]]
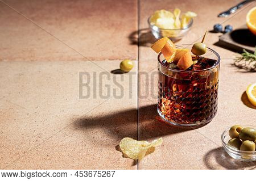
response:
[[(97, 117), (81, 117), (72, 124), (75, 130), (82, 130), (86, 138), (100, 145), (106, 145), (107, 140), (120, 141), (123, 137), (137, 140), (138, 122), (137, 110), (124, 110), (109, 115)], [(142, 130), (142, 131), (141, 131)], [(156, 104), (139, 108), (139, 133), (143, 140), (188, 131), (175, 128), (159, 121)]]

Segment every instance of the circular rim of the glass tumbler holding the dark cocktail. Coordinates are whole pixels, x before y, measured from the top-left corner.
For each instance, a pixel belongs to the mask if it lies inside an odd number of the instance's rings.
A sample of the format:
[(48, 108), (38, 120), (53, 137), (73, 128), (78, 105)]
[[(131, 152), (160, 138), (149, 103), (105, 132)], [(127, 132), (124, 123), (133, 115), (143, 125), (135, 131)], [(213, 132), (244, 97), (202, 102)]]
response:
[[(184, 46), (184, 45), (189, 46), (189, 45), (192, 45), (192, 44), (176, 45), (176, 47), (177, 47), (177, 48), (180, 48), (180, 47), (182, 47), (182, 46)], [(217, 56), (217, 58), (218, 58), (218, 60), (216, 61), (216, 63), (215, 63), (213, 66), (211, 66), (210, 68), (207, 68), (207, 69), (202, 69), (202, 70), (178, 70), (178, 69), (172, 69), (172, 68), (168, 67), (167, 65), (164, 65), (163, 62), (160, 61), (160, 56), (161, 56), (162, 52), (160, 52), (160, 53), (158, 54), (158, 62), (160, 63), (161, 66), (164, 66), (164, 68), (166, 68), (166, 69), (168, 69), (168, 70), (176, 71), (176, 72), (181, 72), (181, 73), (193, 73), (193, 72), (201, 72), (201, 71), (205, 71), (205, 70), (211, 70), (211, 69), (215, 68), (217, 65), (220, 64), (220, 55), (219, 55), (215, 50), (213, 50), (213, 49), (211, 49), (211, 48), (208, 48), (208, 47), (207, 47), (207, 49), (209, 49), (211, 52), (213, 52), (213, 53)]]

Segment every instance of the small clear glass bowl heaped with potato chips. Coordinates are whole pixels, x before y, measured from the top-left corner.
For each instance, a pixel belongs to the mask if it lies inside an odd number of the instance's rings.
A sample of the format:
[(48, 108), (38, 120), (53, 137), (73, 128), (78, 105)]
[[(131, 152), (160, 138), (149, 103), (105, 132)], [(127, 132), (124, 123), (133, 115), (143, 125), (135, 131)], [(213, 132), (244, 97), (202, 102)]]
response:
[(156, 39), (168, 37), (172, 41), (182, 39), (191, 29), (195, 12), (187, 11), (181, 14), (179, 9), (172, 13), (167, 10), (158, 10), (148, 18), (148, 26)]

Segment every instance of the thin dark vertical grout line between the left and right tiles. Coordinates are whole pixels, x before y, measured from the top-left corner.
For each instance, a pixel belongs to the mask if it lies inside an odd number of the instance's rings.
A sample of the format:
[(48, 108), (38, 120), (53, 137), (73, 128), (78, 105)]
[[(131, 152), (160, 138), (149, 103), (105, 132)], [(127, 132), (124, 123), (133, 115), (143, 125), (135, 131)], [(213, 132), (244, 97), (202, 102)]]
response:
[[(137, 66), (137, 140), (139, 140), (139, 0), (137, 0), (137, 21), (138, 21), (138, 66)], [(139, 170), (139, 161), (137, 160), (137, 170)]]

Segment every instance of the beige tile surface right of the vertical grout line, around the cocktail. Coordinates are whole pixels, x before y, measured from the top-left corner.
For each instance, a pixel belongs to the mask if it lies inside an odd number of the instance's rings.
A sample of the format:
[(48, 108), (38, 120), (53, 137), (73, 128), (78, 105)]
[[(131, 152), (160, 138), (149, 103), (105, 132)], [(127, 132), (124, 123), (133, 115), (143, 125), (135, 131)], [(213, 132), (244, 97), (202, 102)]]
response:
[[(217, 14), (240, 1), (151, 1), (140, 2), (140, 47), (139, 47), (139, 138), (153, 140), (163, 137), (163, 145), (154, 154), (139, 162), (139, 169), (256, 169), (255, 162), (238, 162), (221, 148), (221, 133), (234, 124), (255, 125), (255, 107), (248, 102), (244, 91), (247, 85), (255, 82), (255, 73), (245, 73), (233, 67), (234, 52), (214, 45), (221, 33), (208, 33), (208, 47), (221, 56), (218, 113), (205, 127), (188, 130), (168, 126), (159, 121), (157, 103), (157, 55), (149, 46), (155, 40), (148, 33), (147, 18), (155, 10), (174, 9), (193, 10), (198, 14), (192, 30), (176, 44), (188, 44), (211, 30), (213, 24), (226, 20), (234, 28), (245, 23), (247, 9), (240, 10), (233, 18), (217, 18)], [(221, 7), (220, 7), (221, 4)], [(200, 10), (195, 9), (200, 8)], [(145, 30), (146, 29), (146, 30)], [(146, 72), (146, 73), (145, 73)], [(149, 75), (145, 75), (145, 74)], [(148, 92), (144, 96), (144, 92)], [(247, 105), (247, 106), (246, 106)]]

